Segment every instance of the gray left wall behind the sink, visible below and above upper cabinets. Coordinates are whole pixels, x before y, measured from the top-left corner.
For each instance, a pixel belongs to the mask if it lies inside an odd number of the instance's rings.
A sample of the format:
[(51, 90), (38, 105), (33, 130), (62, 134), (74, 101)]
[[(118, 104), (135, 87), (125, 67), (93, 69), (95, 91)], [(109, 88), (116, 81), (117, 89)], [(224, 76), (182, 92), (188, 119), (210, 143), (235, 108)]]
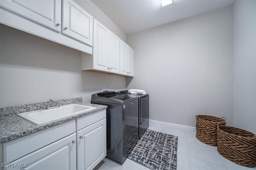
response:
[[(79, 3), (80, 4), (80, 3)], [(113, 33), (126, 34), (91, 1), (80, 4)], [(81, 71), (81, 52), (0, 24), (0, 107), (122, 90), (126, 78)]]

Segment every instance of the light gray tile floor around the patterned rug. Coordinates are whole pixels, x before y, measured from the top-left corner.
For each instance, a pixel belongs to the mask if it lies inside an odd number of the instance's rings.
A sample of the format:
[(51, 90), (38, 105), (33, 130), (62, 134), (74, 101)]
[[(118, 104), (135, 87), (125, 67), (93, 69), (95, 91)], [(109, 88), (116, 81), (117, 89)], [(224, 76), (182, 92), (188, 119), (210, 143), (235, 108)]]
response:
[[(149, 129), (178, 136), (177, 170), (256, 170), (235, 164), (222, 157), (216, 147), (198, 141), (194, 128), (150, 121)], [(95, 169), (148, 170), (130, 159), (120, 165), (109, 158), (104, 158)]]

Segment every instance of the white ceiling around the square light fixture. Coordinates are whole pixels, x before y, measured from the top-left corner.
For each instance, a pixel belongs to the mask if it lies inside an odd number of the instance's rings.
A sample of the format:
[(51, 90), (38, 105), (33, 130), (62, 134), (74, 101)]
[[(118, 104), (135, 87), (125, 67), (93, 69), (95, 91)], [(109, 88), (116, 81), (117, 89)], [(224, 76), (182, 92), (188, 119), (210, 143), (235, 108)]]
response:
[(165, 23), (232, 5), (235, 0), (92, 0), (124, 33), (131, 34)]

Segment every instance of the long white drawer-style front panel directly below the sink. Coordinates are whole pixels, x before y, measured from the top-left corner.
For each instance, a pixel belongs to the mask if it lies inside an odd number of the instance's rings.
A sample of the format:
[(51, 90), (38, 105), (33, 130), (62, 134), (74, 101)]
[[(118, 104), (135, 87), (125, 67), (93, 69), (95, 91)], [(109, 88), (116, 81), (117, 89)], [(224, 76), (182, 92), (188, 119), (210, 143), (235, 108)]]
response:
[(54, 141), (76, 132), (76, 121), (68, 121), (60, 125), (15, 139), (3, 144), (3, 162), (9, 163), (26, 154), (34, 152)]

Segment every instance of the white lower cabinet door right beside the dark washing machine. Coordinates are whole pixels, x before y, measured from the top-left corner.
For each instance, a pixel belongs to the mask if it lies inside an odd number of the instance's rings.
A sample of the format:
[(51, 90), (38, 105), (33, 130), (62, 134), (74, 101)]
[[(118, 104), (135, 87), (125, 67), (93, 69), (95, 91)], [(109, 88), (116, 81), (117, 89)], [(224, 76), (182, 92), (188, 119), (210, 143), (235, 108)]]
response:
[(93, 169), (106, 156), (106, 118), (77, 132), (77, 168)]

